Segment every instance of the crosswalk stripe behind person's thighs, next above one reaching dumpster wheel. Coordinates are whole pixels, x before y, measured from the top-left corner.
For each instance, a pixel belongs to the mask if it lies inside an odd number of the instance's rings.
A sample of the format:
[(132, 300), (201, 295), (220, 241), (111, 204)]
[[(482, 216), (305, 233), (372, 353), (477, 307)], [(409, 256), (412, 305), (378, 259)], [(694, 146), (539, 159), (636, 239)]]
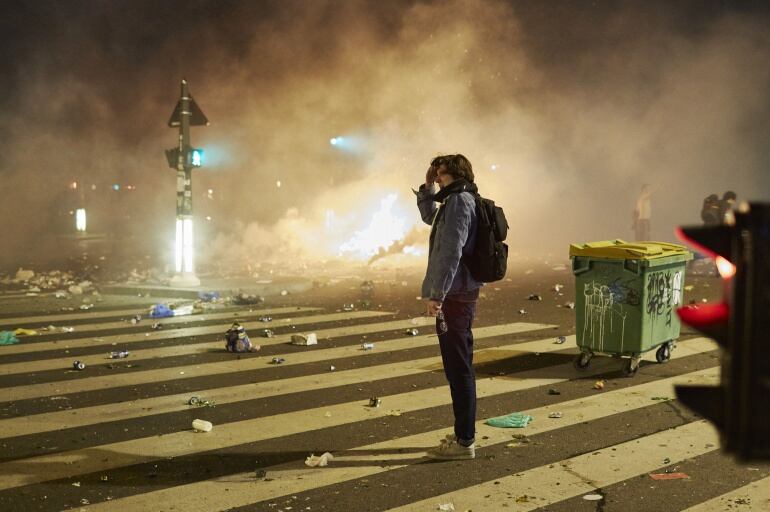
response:
[[(422, 318), (422, 317), (418, 317)], [(432, 319), (431, 319), (432, 321)], [(390, 328), (398, 329), (400, 327), (414, 327), (410, 320), (401, 320), (397, 322), (388, 322)], [(381, 324), (374, 329), (383, 330)], [(360, 326), (363, 330), (368, 326)], [(534, 331), (538, 329), (548, 329), (554, 327), (546, 324), (531, 324), (515, 322), (511, 324), (495, 325), (490, 327), (480, 327), (474, 329), (474, 336), (501, 336), (519, 332)], [(330, 329), (339, 335), (355, 334), (353, 326), (342, 329)], [(325, 331), (317, 331), (319, 336), (328, 335)], [(345, 334), (339, 334), (343, 332)], [(361, 331), (358, 331), (359, 333)], [(436, 335), (410, 336), (408, 338), (399, 338), (394, 340), (377, 342), (375, 348), (370, 351), (363, 351), (358, 346), (346, 346), (334, 349), (310, 350), (308, 352), (294, 352), (286, 355), (284, 365), (303, 364), (317, 361), (326, 361), (351, 356), (369, 356), (373, 357), (377, 353), (392, 352), (394, 350), (403, 350), (413, 347), (428, 346), (437, 343)], [(121, 386), (135, 386), (149, 382), (162, 382), (166, 380), (191, 379), (208, 375), (217, 375), (230, 372), (244, 372), (270, 368), (272, 358), (266, 357), (243, 357), (230, 361), (221, 361), (216, 363), (195, 364), (191, 366), (178, 366), (174, 368), (159, 368), (156, 370), (145, 370), (130, 373), (118, 373), (115, 375), (103, 375), (100, 377), (88, 377), (69, 381), (42, 382), (39, 384), (25, 384), (5, 388), (5, 397), (3, 401), (27, 400), (30, 398), (40, 398), (44, 396), (66, 395), (70, 393), (80, 393), (83, 391), (94, 391), (100, 389), (109, 389)], [(72, 370), (75, 371), (75, 370)]]

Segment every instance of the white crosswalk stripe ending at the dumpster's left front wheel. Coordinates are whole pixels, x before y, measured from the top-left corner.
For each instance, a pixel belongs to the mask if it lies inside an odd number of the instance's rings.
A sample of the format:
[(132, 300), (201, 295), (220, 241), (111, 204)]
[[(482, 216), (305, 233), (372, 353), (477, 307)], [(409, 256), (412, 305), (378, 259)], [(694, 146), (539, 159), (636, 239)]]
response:
[[(482, 332), (477, 333), (475, 337), (476, 339), (483, 339), (486, 336), (484, 336)], [(574, 336), (572, 336), (572, 338), (572, 341), (574, 342)], [(405, 343), (405, 345), (406, 344), (407, 343)], [(474, 354), (474, 359), (478, 365), (479, 363), (511, 359), (512, 357), (532, 352), (545, 353), (561, 349), (562, 345), (554, 344), (553, 338), (546, 338), (478, 350)], [(347, 348), (345, 352), (347, 356), (362, 354), (362, 351), (360, 350), (356, 349), (355, 352), (353, 352), (349, 348)], [(187, 402), (191, 396), (200, 396), (217, 405), (224, 405), (244, 400), (265, 398), (268, 396), (299, 393), (381, 379), (392, 379), (394, 377), (406, 377), (428, 371), (439, 371), (441, 369), (441, 357), (435, 356), (413, 361), (356, 368), (354, 370), (336, 371), (334, 373), (329, 372), (326, 374), (305, 375), (302, 377), (281, 379), (279, 381), (202, 389), (175, 395), (133, 400), (128, 403), (110, 403), (81, 408), (78, 408), (77, 404), (73, 404), (73, 409), (64, 411), (32, 414), (18, 418), (0, 420), (0, 439), (65, 428), (95, 425), (108, 421), (119, 421), (189, 410), (190, 406)]]

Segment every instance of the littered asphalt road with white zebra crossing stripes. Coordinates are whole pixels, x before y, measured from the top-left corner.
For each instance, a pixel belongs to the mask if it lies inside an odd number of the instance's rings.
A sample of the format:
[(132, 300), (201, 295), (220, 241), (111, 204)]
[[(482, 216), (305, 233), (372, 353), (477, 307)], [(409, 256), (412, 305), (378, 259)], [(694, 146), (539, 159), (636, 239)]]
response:
[[(371, 297), (360, 288), (368, 278)], [(574, 278), (542, 263), (511, 269), (479, 300), (477, 458), (426, 459), (452, 414), (419, 282), (348, 276), (161, 320), (162, 330), (129, 321), (157, 298), (102, 296), (62, 312), (59, 299), (0, 296), (0, 329), (54, 327), (0, 346), (0, 510), (770, 510), (770, 465), (722, 454), (675, 399), (674, 384), (718, 378), (713, 342), (683, 329), (669, 362), (648, 356), (632, 378), (604, 356), (578, 372), (575, 310), (564, 307)], [(713, 277), (686, 284), (686, 301), (720, 294)], [(234, 319), (259, 352), (224, 351)], [(318, 345), (290, 344), (311, 332)], [(108, 359), (117, 350), (130, 355)], [(209, 406), (188, 405), (192, 396)], [(534, 419), (483, 423), (512, 412)], [(194, 419), (213, 429), (194, 432)], [(325, 452), (326, 467), (306, 465)]]

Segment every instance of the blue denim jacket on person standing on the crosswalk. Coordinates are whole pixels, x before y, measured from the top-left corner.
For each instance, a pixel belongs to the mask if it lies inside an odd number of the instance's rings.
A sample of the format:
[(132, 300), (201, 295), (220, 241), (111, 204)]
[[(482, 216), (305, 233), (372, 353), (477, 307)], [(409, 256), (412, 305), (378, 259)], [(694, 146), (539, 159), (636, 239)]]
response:
[[(447, 295), (478, 290), (476, 281), (462, 263), (476, 242), (475, 184), (456, 180), (437, 194), (421, 185), (415, 191), (422, 220), (432, 224), (428, 269), (422, 282), (422, 297), (443, 302)], [(437, 201), (439, 201), (438, 207)]]

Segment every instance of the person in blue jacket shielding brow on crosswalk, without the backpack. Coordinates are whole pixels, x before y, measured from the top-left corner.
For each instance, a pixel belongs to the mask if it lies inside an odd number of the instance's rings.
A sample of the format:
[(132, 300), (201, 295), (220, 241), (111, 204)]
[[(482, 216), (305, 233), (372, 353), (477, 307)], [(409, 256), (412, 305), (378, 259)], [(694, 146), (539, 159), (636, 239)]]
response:
[(455, 418), (454, 434), (428, 451), (433, 459), (476, 456), (476, 374), (471, 328), (481, 283), (471, 276), (462, 257), (473, 252), (476, 240), (477, 193), (471, 163), (460, 154), (434, 158), (425, 184), (415, 191), (422, 220), (432, 224), (422, 297), (427, 299), (428, 315), (436, 317)]

